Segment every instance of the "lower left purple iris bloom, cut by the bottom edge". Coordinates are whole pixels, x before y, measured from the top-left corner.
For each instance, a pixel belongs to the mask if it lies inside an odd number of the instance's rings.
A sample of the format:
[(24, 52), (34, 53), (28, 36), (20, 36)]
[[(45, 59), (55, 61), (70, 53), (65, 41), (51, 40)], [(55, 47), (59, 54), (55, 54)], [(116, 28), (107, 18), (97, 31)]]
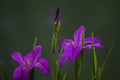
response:
[(19, 52), (12, 53), (12, 58), (20, 64), (13, 74), (14, 80), (29, 80), (29, 73), (33, 67), (38, 67), (44, 74), (49, 75), (49, 64), (41, 56), (42, 46), (37, 45), (30, 53), (22, 57)]

